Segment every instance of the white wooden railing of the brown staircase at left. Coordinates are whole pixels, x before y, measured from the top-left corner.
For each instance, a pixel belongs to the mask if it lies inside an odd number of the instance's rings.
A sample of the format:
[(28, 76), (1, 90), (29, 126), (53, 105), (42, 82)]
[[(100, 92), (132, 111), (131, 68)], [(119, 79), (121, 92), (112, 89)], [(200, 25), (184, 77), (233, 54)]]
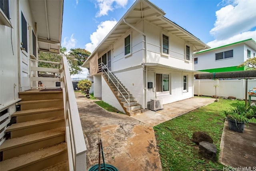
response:
[[(30, 67), (31, 85), (36, 85), (42, 79), (46, 81), (60, 81), (60, 87), (63, 92), (64, 114), (66, 124), (66, 142), (68, 145), (68, 161), (70, 171), (86, 171), (86, 144), (80, 122), (76, 97), (68, 68), (68, 61), (65, 56), (60, 63), (50, 61), (31, 60), (34, 62), (46, 62), (60, 64), (59, 69)], [(36, 71), (59, 73), (60, 78), (42, 78), (38, 77)], [(34, 83), (36, 82), (36, 83)], [(33, 88), (33, 86), (31, 86)], [(38, 87), (36, 87), (38, 88)], [(42, 88), (42, 87), (40, 87)], [(50, 88), (50, 87), (47, 87)]]

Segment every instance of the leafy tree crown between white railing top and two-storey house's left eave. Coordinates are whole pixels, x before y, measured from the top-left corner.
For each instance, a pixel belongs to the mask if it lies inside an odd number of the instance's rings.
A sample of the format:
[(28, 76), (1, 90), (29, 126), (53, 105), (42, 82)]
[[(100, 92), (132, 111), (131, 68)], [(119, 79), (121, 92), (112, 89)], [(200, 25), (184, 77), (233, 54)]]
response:
[(90, 56), (91, 52), (76, 48), (76, 49), (70, 49), (69, 55), (76, 58), (78, 60), (78, 66), (82, 66), (82, 64), (86, 61), (86, 59)]

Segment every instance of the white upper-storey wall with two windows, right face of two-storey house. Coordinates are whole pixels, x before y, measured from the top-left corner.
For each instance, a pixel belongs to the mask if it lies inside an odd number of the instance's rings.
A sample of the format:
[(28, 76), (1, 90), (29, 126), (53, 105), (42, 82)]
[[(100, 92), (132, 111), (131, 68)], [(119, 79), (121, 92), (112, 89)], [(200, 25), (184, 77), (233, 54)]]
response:
[[(147, 63), (157, 63), (175, 68), (193, 70), (193, 46), (186, 44), (184, 40), (168, 34), (164, 30), (144, 22), (146, 33)], [(169, 36), (169, 55), (161, 54), (162, 34)], [(190, 46), (190, 60), (185, 60), (185, 48)]]

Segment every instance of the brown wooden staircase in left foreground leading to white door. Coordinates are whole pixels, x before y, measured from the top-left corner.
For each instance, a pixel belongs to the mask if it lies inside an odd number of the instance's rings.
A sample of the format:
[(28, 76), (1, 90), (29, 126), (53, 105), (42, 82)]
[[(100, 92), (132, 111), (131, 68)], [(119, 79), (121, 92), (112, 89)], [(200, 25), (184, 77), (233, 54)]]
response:
[(16, 123), (6, 130), (10, 139), (0, 146), (0, 170), (68, 170), (62, 91), (36, 89), (19, 97)]

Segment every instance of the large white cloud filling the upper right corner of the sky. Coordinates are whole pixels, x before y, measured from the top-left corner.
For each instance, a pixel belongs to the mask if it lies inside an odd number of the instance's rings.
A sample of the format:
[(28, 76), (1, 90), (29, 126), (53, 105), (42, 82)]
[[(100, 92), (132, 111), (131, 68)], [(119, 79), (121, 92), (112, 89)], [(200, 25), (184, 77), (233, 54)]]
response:
[(224, 7), (216, 11), (216, 21), (210, 34), (215, 40), (207, 45), (215, 48), (253, 38), (256, 40), (255, 0), (222, 0)]

